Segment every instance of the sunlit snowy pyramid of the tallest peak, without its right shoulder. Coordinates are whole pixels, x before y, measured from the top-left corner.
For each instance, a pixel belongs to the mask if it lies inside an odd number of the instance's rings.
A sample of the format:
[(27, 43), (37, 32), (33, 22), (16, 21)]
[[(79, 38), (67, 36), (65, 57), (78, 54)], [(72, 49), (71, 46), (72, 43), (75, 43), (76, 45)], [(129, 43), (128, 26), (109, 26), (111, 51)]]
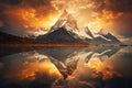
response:
[(79, 38), (80, 37), (79, 34), (80, 34), (81, 31), (79, 31), (79, 29), (77, 28), (77, 21), (66, 10), (61, 15), (58, 21), (51, 28), (50, 33), (54, 32), (54, 31), (56, 31), (56, 30), (58, 30), (61, 28), (65, 29), (75, 38)]

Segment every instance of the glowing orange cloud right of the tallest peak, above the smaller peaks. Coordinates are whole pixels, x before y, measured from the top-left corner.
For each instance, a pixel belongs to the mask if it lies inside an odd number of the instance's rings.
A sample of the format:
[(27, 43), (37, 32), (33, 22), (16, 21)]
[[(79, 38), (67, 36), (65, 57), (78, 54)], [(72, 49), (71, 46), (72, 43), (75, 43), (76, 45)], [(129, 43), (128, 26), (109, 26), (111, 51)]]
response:
[(114, 33), (114, 21), (123, 15), (123, 12), (114, 13), (110, 10), (102, 10), (101, 13), (97, 13), (97, 16), (89, 22), (89, 28), (94, 31), (99, 31), (100, 29), (105, 29), (106, 31), (110, 31)]

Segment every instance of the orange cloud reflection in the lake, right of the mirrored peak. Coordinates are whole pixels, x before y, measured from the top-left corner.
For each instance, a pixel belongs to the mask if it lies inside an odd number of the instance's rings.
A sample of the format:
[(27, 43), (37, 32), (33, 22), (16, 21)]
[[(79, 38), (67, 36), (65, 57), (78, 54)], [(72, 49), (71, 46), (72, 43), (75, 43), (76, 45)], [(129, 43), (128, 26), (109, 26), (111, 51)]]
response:
[(108, 62), (101, 62), (99, 58), (90, 59), (86, 66), (94, 69), (96, 74), (101, 74), (103, 79), (110, 79), (113, 76), (122, 77), (121, 74), (114, 70), (113, 65)]

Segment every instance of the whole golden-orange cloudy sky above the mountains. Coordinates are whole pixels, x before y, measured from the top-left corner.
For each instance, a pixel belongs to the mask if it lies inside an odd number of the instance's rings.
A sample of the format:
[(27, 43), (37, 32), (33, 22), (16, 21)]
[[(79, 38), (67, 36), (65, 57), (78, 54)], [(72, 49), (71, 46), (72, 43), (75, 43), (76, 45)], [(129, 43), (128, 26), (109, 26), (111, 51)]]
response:
[(0, 0), (0, 26), (34, 32), (50, 30), (66, 9), (79, 28), (131, 35), (131, 0)]

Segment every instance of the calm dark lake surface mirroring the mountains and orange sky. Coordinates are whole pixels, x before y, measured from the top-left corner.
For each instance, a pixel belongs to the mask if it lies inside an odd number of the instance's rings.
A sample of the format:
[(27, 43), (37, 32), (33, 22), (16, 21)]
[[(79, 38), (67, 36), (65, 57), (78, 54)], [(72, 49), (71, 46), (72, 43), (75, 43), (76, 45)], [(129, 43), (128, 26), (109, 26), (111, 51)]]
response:
[(0, 47), (0, 88), (132, 88), (132, 47)]

